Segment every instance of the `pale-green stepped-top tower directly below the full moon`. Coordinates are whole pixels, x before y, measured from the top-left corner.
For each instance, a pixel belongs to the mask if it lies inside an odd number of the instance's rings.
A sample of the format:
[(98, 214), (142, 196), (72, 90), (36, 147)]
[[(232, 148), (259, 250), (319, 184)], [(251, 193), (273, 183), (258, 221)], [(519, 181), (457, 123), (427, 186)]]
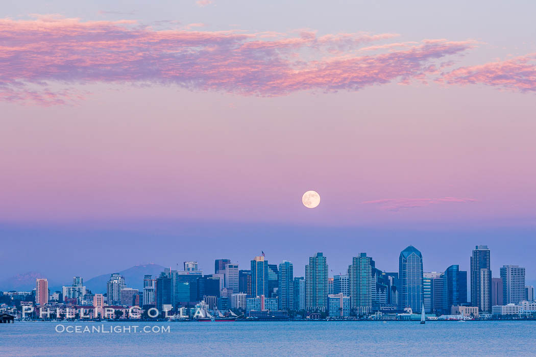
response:
[(327, 309), (328, 266), (323, 253), (309, 257), (305, 267), (306, 309), (325, 311)]

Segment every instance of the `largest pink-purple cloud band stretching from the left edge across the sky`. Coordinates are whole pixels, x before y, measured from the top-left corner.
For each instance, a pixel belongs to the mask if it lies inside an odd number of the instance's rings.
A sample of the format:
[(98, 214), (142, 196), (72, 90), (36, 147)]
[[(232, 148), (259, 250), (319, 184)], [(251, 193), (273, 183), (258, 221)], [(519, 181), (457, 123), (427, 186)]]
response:
[(474, 47), (473, 41), (423, 40), (358, 55), (363, 45), (396, 36), (317, 36), (308, 29), (297, 34), (156, 31), (131, 20), (80, 21), (55, 15), (1, 19), (0, 100), (47, 105), (81, 97), (53, 90), (50, 83), (174, 83), (257, 96), (359, 90), (393, 81), (425, 81), (438, 72), (437, 60)]

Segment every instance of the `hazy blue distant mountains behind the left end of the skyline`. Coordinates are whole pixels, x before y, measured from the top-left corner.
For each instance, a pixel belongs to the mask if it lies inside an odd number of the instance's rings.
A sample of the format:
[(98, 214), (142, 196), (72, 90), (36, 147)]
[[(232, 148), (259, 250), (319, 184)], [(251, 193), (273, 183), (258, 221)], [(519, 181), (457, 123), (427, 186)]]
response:
[[(89, 280), (84, 279), (84, 285), (93, 293), (106, 293), (106, 283), (110, 279), (110, 275), (117, 272), (125, 278), (126, 286), (142, 290), (144, 275), (150, 274), (154, 278), (155, 276), (159, 276), (160, 272), (163, 270), (164, 267), (158, 264), (135, 265), (129, 269), (113, 271), (109, 274), (99, 275)], [(34, 271), (18, 274), (11, 278), (0, 280), (0, 290), (32, 291), (32, 289), (35, 288), (35, 279), (38, 278), (46, 278), (46, 276)], [(49, 290), (51, 292), (61, 290), (63, 285), (70, 286), (72, 285), (72, 281), (61, 284), (61, 282), (53, 282), (49, 279), (48, 282)]]

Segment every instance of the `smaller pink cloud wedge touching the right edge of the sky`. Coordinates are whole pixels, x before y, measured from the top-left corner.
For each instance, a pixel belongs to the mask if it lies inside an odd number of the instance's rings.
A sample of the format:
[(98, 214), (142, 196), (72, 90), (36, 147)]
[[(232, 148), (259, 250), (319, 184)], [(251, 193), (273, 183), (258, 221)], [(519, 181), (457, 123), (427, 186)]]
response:
[(536, 54), (479, 66), (460, 67), (443, 75), (448, 84), (484, 84), (519, 92), (536, 91)]

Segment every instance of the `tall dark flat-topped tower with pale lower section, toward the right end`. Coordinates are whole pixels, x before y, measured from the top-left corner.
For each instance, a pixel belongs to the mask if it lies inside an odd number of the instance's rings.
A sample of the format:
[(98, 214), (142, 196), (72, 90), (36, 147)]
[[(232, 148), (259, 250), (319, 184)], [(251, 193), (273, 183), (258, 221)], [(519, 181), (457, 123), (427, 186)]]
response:
[(471, 256), (471, 305), (492, 312), (492, 270), (488, 246), (476, 246)]

